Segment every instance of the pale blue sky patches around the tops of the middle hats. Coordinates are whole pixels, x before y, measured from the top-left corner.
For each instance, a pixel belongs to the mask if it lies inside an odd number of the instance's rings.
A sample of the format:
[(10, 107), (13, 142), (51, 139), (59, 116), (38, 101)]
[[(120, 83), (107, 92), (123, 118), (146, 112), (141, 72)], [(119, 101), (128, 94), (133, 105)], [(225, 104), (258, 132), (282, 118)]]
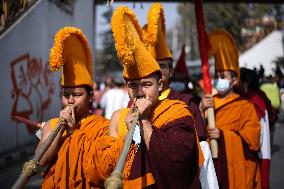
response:
[[(143, 3), (143, 8), (141, 8), (141, 3), (135, 3), (135, 8), (133, 6), (133, 3), (114, 3), (112, 6), (114, 9), (118, 6), (125, 5), (129, 8), (131, 8), (135, 13), (139, 20), (139, 23), (141, 26), (146, 24), (147, 22), (147, 14), (150, 9), (152, 3)], [(177, 6), (178, 3), (161, 3), (164, 6), (164, 14), (166, 19), (166, 28), (171, 29), (175, 26), (175, 23), (179, 19), (179, 15), (177, 13)], [(100, 39), (100, 33), (106, 30), (106, 25), (103, 24), (103, 17), (102, 14), (108, 9), (106, 5), (97, 5), (96, 9), (96, 42), (97, 42), (97, 48), (101, 47), (101, 39)]]

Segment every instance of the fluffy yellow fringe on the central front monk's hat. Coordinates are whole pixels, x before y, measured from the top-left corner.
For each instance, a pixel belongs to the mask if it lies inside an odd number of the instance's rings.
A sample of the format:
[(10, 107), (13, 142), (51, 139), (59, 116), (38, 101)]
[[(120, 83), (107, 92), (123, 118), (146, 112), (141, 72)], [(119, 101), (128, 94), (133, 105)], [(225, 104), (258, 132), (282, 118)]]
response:
[(135, 61), (133, 56), (134, 43), (127, 42), (127, 25), (125, 23), (125, 15), (127, 15), (134, 24), (134, 27), (140, 37), (140, 40), (143, 41), (142, 29), (138, 23), (138, 20), (135, 16), (135, 13), (126, 6), (121, 6), (117, 8), (112, 16), (111, 26), (113, 31), (113, 37), (115, 39), (115, 48), (117, 50), (117, 56), (121, 60), (120, 62), (129, 66), (132, 65)]

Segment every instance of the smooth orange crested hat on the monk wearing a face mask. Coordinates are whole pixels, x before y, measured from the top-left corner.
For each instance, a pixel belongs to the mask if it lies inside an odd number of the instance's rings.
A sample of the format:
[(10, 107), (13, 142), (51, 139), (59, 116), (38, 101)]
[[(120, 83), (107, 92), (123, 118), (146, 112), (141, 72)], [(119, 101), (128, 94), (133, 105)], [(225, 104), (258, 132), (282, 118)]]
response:
[(225, 30), (217, 29), (209, 34), (209, 41), (209, 56), (215, 58), (216, 71), (234, 71), (239, 78), (239, 51), (232, 35)]

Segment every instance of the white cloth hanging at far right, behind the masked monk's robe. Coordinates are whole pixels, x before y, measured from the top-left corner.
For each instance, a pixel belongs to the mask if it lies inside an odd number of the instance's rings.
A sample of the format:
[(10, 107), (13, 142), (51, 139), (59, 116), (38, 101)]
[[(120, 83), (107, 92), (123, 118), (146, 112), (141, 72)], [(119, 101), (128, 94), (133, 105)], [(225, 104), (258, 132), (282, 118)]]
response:
[(265, 115), (260, 120), (260, 151), (258, 156), (260, 159), (271, 159), (271, 149), (270, 149), (270, 130), (268, 113), (265, 110)]

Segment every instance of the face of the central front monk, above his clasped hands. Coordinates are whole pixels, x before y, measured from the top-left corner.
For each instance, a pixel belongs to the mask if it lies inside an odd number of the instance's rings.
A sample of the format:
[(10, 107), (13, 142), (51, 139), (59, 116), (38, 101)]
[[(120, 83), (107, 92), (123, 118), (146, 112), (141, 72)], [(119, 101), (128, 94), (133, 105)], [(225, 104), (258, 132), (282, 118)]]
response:
[(155, 104), (158, 101), (163, 84), (157, 74), (152, 74), (140, 80), (128, 80), (126, 86), (131, 101), (146, 98), (152, 104)]

